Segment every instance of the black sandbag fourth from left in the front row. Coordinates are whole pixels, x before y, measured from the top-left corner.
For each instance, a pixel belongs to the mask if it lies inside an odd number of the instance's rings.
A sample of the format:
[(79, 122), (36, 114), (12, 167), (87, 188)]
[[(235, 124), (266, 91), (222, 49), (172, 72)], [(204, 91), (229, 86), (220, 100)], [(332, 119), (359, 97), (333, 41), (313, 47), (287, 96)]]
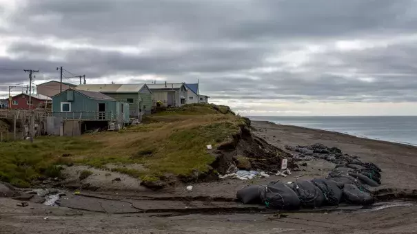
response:
[(329, 206), (338, 206), (340, 200), (342, 200), (343, 191), (339, 189), (336, 182), (321, 178), (314, 179), (312, 182), (323, 192), (325, 204)]

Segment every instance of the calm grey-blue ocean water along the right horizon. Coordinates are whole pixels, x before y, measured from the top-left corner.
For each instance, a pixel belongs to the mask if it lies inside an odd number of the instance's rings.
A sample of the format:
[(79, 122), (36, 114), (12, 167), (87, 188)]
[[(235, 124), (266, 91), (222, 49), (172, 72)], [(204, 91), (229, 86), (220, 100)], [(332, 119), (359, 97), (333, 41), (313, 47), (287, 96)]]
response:
[(281, 125), (337, 131), (343, 134), (417, 145), (417, 116), (249, 117)]

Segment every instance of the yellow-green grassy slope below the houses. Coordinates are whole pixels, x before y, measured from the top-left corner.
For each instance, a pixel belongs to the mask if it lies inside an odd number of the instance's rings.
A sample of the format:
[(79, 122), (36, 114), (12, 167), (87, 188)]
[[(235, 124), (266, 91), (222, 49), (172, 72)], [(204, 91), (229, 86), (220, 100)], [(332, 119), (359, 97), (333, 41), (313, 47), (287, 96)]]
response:
[[(128, 173), (143, 180), (157, 180), (164, 173), (189, 175), (207, 171), (214, 158), (206, 145), (230, 138), (242, 124), (227, 107), (187, 105), (145, 120), (145, 124), (119, 132), (75, 138), (43, 137), (30, 142), (0, 143), (0, 180), (28, 186), (40, 175), (54, 174), (55, 164), (88, 164)], [(70, 157), (62, 157), (70, 154)], [(123, 167), (143, 164), (145, 169)], [(51, 173), (52, 171), (52, 173)]]

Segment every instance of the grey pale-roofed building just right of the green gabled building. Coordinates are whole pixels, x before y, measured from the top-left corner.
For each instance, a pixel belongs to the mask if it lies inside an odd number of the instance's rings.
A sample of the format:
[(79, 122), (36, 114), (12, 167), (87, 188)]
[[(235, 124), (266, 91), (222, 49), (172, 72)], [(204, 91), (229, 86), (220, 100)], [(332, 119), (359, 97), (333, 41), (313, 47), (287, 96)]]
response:
[(181, 107), (187, 104), (187, 87), (184, 83), (148, 84), (154, 107)]

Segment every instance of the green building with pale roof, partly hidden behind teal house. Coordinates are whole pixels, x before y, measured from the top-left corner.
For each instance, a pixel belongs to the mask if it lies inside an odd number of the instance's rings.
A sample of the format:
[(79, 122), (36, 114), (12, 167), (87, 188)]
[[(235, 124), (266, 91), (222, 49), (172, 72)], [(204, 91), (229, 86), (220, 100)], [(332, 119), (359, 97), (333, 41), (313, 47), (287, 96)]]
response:
[(101, 92), (120, 102), (129, 103), (130, 116), (135, 118), (151, 112), (152, 92), (146, 84), (90, 84), (79, 85), (75, 89)]

